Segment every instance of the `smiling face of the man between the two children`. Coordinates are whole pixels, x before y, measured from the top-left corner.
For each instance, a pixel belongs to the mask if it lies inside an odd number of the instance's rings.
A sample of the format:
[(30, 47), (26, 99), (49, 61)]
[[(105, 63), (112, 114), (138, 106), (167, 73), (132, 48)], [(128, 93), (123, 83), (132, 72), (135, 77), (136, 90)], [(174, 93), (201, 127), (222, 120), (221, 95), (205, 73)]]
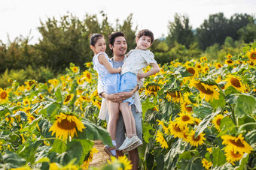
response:
[(116, 37), (114, 40), (114, 46), (109, 45), (113, 50), (113, 54), (117, 56), (124, 56), (127, 50), (127, 43), (124, 37)]

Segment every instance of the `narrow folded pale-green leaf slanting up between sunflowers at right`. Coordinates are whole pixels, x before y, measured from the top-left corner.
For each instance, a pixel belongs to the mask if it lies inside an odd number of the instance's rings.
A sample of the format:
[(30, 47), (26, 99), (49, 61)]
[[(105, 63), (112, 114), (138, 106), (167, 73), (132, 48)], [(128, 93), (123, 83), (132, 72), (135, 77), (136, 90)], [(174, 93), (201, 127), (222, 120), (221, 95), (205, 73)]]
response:
[(215, 117), (215, 115), (218, 115), (221, 112), (221, 107), (218, 107), (216, 112), (213, 112), (211, 115), (206, 116), (206, 118), (203, 119), (203, 121), (198, 124), (197, 130), (195, 132), (195, 138), (200, 135), (200, 133), (203, 133), (203, 130), (205, 130), (208, 125), (211, 123), (212, 119)]

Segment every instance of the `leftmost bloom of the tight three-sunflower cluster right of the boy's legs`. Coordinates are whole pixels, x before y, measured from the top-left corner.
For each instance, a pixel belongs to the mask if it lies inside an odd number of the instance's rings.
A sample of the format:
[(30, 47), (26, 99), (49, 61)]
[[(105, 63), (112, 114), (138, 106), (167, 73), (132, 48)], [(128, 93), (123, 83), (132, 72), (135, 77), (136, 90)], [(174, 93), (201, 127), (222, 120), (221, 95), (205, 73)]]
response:
[(169, 132), (175, 138), (184, 138), (184, 132), (188, 131), (188, 127), (179, 127), (177, 122), (170, 121), (168, 126)]

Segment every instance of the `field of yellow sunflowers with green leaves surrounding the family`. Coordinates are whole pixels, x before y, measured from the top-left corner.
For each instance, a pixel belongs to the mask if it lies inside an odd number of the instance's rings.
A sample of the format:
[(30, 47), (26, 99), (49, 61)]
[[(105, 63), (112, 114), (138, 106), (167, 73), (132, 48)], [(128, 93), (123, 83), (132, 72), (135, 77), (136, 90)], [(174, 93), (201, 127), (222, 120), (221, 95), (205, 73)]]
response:
[[(141, 169), (256, 169), (255, 64), (253, 43), (224, 62), (172, 61), (147, 77), (139, 89)], [(97, 118), (97, 75), (85, 66), (71, 63), (47, 83), (9, 79), (12, 85), (0, 88), (1, 169), (88, 169), (93, 141), (111, 146)], [(131, 164), (112, 157), (102, 169)]]

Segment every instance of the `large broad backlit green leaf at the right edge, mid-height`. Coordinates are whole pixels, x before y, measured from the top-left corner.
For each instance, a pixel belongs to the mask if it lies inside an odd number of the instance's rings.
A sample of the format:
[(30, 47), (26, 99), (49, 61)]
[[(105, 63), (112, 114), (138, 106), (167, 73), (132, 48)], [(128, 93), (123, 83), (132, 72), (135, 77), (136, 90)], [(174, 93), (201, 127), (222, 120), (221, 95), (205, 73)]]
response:
[(254, 97), (246, 95), (246, 94), (239, 94), (236, 107), (235, 107), (235, 114), (239, 118), (243, 115), (252, 115), (252, 111), (255, 109), (256, 100)]

